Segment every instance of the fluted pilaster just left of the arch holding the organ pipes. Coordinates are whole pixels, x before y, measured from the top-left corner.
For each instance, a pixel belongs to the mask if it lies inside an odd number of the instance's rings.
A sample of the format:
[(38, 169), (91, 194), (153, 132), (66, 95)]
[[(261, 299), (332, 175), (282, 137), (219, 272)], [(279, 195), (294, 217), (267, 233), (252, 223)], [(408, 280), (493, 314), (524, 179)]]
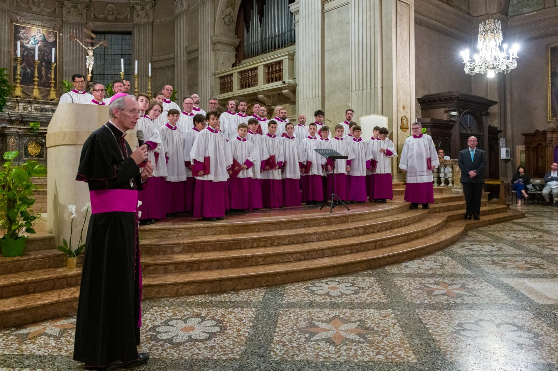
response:
[(213, 1), (199, 0), (199, 82), (198, 94), (201, 101), (209, 99), (213, 93), (213, 51), (211, 36), (213, 35)]

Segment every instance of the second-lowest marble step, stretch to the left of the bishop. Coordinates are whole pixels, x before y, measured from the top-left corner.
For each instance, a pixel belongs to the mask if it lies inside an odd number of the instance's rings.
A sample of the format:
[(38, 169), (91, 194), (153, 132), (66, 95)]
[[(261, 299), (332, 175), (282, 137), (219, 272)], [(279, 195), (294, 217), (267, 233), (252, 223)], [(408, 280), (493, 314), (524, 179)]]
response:
[(78, 286), (81, 269), (45, 268), (0, 275), (0, 299)]

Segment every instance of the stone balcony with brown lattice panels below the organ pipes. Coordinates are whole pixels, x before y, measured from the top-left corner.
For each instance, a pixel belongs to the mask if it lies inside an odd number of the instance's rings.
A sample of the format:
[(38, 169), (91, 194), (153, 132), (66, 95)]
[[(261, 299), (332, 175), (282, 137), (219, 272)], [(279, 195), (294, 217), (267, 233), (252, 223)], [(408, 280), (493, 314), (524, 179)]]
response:
[(286, 51), (261, 58), (213, 76), (215, 97), (219, 100), (281, 92), (292, 99), (296, 90), (295, 53)]

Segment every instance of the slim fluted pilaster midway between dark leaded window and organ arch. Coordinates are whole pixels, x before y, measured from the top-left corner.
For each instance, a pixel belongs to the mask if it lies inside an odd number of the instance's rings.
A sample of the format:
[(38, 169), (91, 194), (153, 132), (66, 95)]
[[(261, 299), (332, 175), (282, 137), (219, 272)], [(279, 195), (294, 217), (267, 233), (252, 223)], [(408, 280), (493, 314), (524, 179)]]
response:
[[(188, 32), (187, 2), (175, 2), (175, 86), (180, 97), (190, 94), (188, 89), (188, 56), (186, 53)], [(181, 106), (181, 105), (180, 105)]]

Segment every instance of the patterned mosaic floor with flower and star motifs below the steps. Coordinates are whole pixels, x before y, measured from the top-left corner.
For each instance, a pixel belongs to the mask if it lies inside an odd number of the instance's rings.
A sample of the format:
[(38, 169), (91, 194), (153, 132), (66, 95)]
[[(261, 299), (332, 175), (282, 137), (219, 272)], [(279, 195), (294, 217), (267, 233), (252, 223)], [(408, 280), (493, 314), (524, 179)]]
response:
[[(417, 260), (143, 302), (138, 370), (557, 370), (558, 208)], [(0, 330), (0, 370), (80, 370), (75, 318)]]

